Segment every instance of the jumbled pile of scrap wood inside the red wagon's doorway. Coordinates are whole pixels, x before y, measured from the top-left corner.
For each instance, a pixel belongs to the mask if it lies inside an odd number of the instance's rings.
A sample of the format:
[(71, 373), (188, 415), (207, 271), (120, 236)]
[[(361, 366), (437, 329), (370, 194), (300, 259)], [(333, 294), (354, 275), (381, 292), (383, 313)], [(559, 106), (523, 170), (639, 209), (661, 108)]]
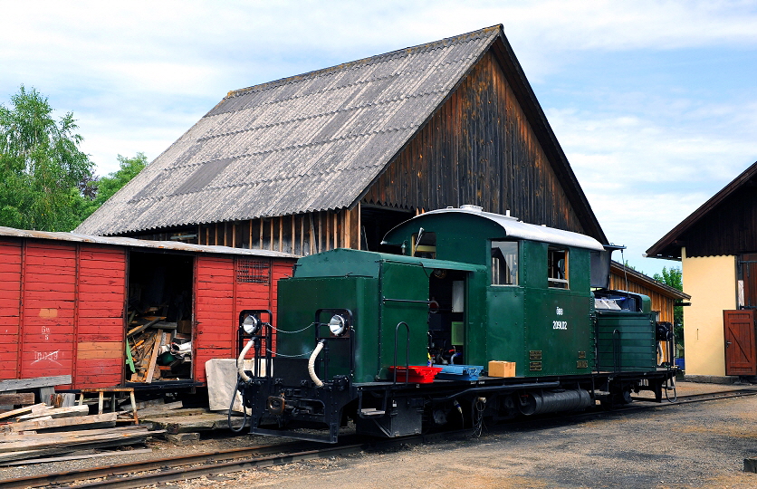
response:
[[(191, 336), (185, 332), (187, 321), (168, 322), (166, 316), (148, 315), (158, 308), (149, 308), (145, 315), (131, 312), (126, 333), (128, 347), (127, 369), (131, 382), (151, 383), (156, 379), (182, 379), (189, 377), (188, 365), (191, 348), (177, 354), (178, 346), (188, 343)], [(186, 365), (186, 367), (185, 367)]]

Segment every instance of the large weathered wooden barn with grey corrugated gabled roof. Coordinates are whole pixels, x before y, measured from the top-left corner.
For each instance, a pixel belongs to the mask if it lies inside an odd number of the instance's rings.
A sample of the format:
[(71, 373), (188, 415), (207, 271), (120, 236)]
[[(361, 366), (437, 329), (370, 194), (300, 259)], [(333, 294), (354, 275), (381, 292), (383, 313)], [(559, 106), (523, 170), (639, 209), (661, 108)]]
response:
[(464, 204), (608, 243), (501, 25), (231, 91), (77, 232), (375, 251)]

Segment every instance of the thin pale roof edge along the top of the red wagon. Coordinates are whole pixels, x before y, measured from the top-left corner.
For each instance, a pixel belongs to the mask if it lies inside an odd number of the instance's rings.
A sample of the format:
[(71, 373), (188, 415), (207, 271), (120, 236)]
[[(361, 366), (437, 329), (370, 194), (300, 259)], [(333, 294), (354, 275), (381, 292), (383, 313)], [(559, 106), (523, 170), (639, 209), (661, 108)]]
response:
[(50, 239), (54, 241), (71, 241), (75, 243), (90, 243), (92, 245), (115, 245), (129, 246), (132, 248), (154, 248), (160, 250), (182, 251), (192, 253), (216, 253), (216, 254), (242, 254), (253, 256), (265, 256), (271, 258), (299, 258), (297, 254), (274, 252), (269, 250), (250, 250), (246, 248), (232, 248), (229, 246), (191, 245), (178, 241), (152, 241), (149, 239), (135, 239), (128, 237), (106, 237), (81, 235), (78, 233), (61, 233), (53, 231), (30, 231), (15, 229), (0, 225), (0, 236), (12, 236), (20, 238)]

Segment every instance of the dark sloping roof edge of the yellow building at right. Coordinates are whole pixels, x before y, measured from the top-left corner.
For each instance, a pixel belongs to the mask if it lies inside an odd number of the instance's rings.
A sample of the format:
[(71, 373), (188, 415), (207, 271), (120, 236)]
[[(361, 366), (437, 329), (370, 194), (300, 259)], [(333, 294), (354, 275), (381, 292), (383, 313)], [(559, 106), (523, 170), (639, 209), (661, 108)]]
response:
[(652, 245), (652, 247), (647, 250), (647, 257), (680, 259), (681, 248), (683, 246), (681, 239), (683, 235), (699, 223), (704, 216), (707, 216), (712, 212), (715, 207), (723, 204), (728, 197), (733, 196), (734, 193), (743, 187), (754, 183), (757, 183), (757, 162), (754, 162), (751, 167), (746, 168), (741, 175), (733, 178), (731, 183), (723, 187), (720, 192), (715, 194), (690, 216), (686, 217), (680, 224), (676, 225), (676, 227), (671, 229), (659, 241)]

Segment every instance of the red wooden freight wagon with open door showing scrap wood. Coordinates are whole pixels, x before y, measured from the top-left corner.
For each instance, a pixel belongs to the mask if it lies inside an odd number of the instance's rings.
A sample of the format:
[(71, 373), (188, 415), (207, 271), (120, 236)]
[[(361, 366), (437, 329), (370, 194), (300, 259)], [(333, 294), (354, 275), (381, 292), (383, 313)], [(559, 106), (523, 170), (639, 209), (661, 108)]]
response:
[(236, 356), (239, 312), (275, 317), (276, 283), (296, 258), (0, 226), (0, 379), (203, 385), (206, 360)]

